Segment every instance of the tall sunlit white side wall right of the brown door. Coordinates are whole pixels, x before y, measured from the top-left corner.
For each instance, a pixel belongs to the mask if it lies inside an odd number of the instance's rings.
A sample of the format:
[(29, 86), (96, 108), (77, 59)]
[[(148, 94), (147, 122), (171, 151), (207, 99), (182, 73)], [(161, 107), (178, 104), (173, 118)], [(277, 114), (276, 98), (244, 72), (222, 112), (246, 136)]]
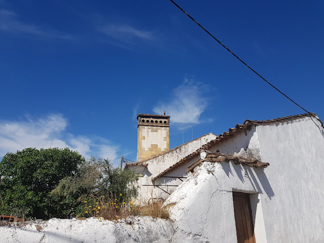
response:
[(271, 197), (261, 197), (268, 242), (324, 242), (324, 131), (313, 117), (256, 127)]

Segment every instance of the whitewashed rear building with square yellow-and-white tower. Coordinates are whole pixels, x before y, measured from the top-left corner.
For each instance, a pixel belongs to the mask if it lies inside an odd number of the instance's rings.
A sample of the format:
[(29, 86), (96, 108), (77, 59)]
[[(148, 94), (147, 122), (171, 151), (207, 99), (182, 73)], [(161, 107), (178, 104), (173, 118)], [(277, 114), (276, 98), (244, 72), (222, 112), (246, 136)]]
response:
[(165, 114), (137, 115), (137, 161), (125, 165), (139, 175), (137, 204), (150, 199), (166, 199), (188, 173), (178, 174), (176, 177), (162, 175), (161, 178), (165, 180), (154, 183), (152, 178), (217, 137), (209, 133), (169, 149), (169, 117)]

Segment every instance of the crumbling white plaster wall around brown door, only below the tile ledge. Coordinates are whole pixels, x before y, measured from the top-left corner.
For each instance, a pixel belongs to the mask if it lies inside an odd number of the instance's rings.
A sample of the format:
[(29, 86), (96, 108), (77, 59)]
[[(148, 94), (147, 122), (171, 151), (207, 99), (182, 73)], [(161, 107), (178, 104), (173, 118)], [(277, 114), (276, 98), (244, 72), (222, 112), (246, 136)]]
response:
[[(197, 166), (194, 174), (165, 201), (165, 204), (173, 205), (170, 214), (179, 229), (184, 234), (199, 235), (210, 243), (237, 242), (233, 188), (250, 193), (263, 192), (258, 180), (260, 169), (249, 168), (245, 170), (246, 176), (242, 174), (243, 170), (242, 165), (232, 162), (203, 162)], [(259, 204), (254, 206), (260, 207)], [(254, 215), (256, 225), (261, 223), (260, 219)], [(258, 230), (257, 233), (256, 242), (266, 242), (264, 230)]]

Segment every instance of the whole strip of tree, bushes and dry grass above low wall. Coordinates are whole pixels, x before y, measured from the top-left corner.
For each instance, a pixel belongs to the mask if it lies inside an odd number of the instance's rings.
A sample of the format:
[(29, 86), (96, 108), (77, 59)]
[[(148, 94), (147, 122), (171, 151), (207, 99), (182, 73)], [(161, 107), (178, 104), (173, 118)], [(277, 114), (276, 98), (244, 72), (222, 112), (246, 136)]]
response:
[(68, 148), (26, 148), (0, 162), (0, 214), (17, 217), (168, 218), (162, 202), (134, 205), (137, 175)]

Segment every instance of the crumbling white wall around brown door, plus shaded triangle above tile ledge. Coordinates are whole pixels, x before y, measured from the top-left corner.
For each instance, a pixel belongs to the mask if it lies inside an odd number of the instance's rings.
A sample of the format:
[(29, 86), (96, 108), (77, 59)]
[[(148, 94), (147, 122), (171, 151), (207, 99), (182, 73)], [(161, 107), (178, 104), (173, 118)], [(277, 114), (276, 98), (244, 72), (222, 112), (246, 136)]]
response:
[[(212, 152), (217, 149), (226, 154), (259, 157), (255, 126), (209, 148)], [(181, 169), (185, 170), (199, 158), (197, 155), (183, 163)], [(210, 243), (237, 242), (232, 191), (255, 193), (252, 196), (254, 200), (251, 200), (254, 211), (258, 212), (253, 215), (257, 225), (254, 229), (255, 236), (257, 242), (266, 242), (261, 206), (258, 203), (258, 193), (265, 193), (259, 180), (262, 177), (264, 177), (263, 169), (236, 165), (232, 162), (203, 162), (174, 190), (165, 204), (174, 204), (170, 208), (171, 217), (183, 233), (199, 235)]]

